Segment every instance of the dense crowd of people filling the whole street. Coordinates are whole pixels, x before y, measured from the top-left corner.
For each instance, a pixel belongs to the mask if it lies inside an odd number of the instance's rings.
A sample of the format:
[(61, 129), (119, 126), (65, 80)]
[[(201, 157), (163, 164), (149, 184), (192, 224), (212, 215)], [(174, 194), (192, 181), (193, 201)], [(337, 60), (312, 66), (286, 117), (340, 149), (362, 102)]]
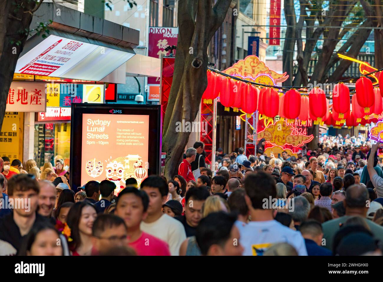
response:
[(118, 195), (109, 180), (70, 187), (59, 156), (41, 170), (3, 157), (0, 255), (382, 255), (382, 160), (363, 145), (324, 136), (275, 157), (261, 139), (255, 155), (219, 148), (211, 170), (195, 142), (172, 179)]

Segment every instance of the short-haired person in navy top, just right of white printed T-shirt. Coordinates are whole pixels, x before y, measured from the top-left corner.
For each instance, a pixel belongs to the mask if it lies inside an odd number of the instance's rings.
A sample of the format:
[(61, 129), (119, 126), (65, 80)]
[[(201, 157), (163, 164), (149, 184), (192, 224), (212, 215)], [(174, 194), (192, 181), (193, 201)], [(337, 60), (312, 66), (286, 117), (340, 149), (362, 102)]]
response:
[(322, 225), (316, 220), (306, 220), (301, 223), (300, 232), (306, 244), (308, 256), (331, 256), (332, 252), (322, 247)]

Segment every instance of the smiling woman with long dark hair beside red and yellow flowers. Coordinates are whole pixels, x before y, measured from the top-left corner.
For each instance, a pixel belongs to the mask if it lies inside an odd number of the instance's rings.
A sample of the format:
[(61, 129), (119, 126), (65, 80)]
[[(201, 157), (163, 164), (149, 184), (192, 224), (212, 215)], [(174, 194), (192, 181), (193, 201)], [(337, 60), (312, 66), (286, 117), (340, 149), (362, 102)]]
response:
[(77, 202), (70, 208), (67, 224), (72, 239), (69, 242), (72, 256), (90, 256), (92, 254), (92, 227), (96, 218), (97, 211), (89, 202)]

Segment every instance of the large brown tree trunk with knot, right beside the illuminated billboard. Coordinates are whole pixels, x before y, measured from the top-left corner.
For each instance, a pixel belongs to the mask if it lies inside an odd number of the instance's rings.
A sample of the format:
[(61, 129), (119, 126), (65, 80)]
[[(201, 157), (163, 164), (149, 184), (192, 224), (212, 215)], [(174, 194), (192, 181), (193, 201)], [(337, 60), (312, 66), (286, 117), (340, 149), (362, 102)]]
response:
[(208, 46), (223, 23), (231, 0), (180, 0), (178, 45), (173, 84), (164, 117), (162, 151), (166, 152), (164, 175), (177, 174), (190, 132), (176, 132), (177, 122), (193, 122), (207, 87)]

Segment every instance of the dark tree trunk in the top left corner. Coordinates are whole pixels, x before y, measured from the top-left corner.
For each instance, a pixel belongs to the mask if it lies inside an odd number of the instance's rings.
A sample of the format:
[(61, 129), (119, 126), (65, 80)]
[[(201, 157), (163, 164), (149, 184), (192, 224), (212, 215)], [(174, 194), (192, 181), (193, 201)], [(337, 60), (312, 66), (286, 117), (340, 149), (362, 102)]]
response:
[(0, 1), (0, 128), (16, 63), (29, 34), (33, 11), (38, 7), (34, 1)]

